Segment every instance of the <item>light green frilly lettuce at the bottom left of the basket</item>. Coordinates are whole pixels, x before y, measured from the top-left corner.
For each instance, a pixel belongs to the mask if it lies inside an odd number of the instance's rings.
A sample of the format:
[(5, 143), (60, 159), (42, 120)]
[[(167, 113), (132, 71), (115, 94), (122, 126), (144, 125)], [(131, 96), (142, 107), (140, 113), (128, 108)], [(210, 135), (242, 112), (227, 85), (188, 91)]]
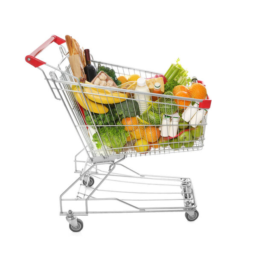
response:
[[(103, 145), (113, 148), (114, 151), (119, 154), (126, 143), (126, 138), (129, 136), (129, 133), (120, 125), (116, 127), (105, 126), (103, 128), (99, 128), (99, 135), (102, 139)], [(97, 133), (93, 134), (93, 141), (96, 143), (96, 147), (98, 149), (102, 148), (102, 144), (100, 143)]]

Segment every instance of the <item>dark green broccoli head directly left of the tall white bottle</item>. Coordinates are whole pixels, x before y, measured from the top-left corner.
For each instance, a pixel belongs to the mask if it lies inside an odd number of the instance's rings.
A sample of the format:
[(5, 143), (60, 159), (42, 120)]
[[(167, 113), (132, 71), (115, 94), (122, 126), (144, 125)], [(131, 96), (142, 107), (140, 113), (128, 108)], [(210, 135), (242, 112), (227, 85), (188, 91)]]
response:
[(136, 117), (140, 114), (140, 108), (136, 100), (125, 100), (116, 103), (116, 111), (121, 120), (125, 117)]

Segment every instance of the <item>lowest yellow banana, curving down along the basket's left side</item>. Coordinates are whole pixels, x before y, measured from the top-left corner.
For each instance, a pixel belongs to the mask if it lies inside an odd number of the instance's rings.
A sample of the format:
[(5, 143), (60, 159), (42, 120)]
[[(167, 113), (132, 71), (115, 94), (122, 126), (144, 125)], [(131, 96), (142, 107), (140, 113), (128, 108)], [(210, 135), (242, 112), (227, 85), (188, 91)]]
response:
[[(104, 113), (108, 112), (108, 108), (106, 106), (104, 106), (100, 103), (96, 103), (95, 101), (89, 100), (86, 96), (84, 96), (85, 100), (89, 106), (89, 109), (88, 109), (86, 106), (86, 103), (84, 101), (83, 95), (81, 93), (79, 93), (81, 91), (80, 87), (73, 85), (72, 90), (75, 91), (74, 94), (75, 94), (77, 102), (86, 110), (90, 110), (91, 112), (97, 113), (97, 114), (104, 114)], [(76, 91), (79, 91), (79, 92), (76, 92)], [(85, 93), (84, 93), (84, 95), (85, 95)]]

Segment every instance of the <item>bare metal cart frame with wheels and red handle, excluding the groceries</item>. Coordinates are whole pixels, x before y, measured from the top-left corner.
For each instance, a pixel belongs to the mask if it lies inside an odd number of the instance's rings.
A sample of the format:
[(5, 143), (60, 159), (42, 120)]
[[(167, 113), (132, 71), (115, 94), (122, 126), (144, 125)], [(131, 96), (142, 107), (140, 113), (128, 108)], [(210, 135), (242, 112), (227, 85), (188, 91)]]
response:
[[(42, 51), (44, 50), (49, 44), (51, 44), (52, 42), (57, 43), (59, 46), (59, 49), (61, 51), (61, 61), (58, 63), (57, 67), (51, 66), (49, 64), (47, 64), (44, 61), (38, 60), (38, 58), (36, 58), (36, 56)], [(196, 200), (195, 200), (195, 194), (194, 194), (194, 189), (191, 183), (191, 180), (187, 177), (168, 177), (168, 176), (159, 176), (159, 175), (147, 175), (147, 174), (140, 174), (137, 171), (132, 170), (131, 168), (128, 168), (126, 166), (124, 166), (121, 162), (129, 155), (129, 153), (121, 153), (121, 154), (108, 154), (108, 151), (106, 150), (106, 148), (103, 146), (102, 151), (104, 151), (104, 154), (98, 154), (97, 156), (92, 155), (93, 152), (93, 144), (91, 142), (91, 140), (88, 139), (88, 137), (86, 136), (86, 126), (84, 126), (84, 119), (81, 116), (81, 112), (79, 111), (79, 108), (77, 108), (77, 105), (73, 105), (73, 108), (68, 108), (68, 106), (70, 106), (70, 104), (66, 104), (65, 101), (70, 100), (70, 98), (68, 98), (70, 95), (69, 94), (65, 94), (63, 91), (69, 91), (66, 85), (72, 85), (72, 84), (76, 84), (76, 86), (79, 86), (79, 88), (82, 91), (82, 86), (81, 83), (79, 82), (79, 79), (77, 77), (74, 77), (71, 73), (70, 70), (70, 66), (66, 66), (65, 70), (61, 69), (61, 64), (67, 60), (68, 58), (68, 52), (66, 51), (65, 47), (62, 46), (61, 44), (64, 43), (65, 40), (61, 39), (60, 37), (57, 37), (55, 35), (53, 35), (52, 37), (49, 38), (49, 40), (47, 40), (45, 43), (43, 43), (40, 47), (38, 47), (38, 49), (36, 49), (35, 51), (33, 51), (30, 55), (26, 56), (25, 60), (27, 63), (31, 64), (34, 67), (37, 67), (39, 70), (42, 71), (45, 80), (47, 80), (47, 83), (49, 85), (49, 88), (52, 91), (53, 96), (55, 97), (55, 99), (57, 100), (61, 100), (64, 103), (64, 107), (66, 108), (70, 119), (73, 122), (73, 125), (76, 129), (76, 132), (79, 135), (79, 138), (81, 140), (81, 143), (83, 144), (83, 149), (81, 151), (79, 151), (78, 154), (76, 154), (75, 156), (75, 172), (79, 173), (79, 177), (61, 194), (60, 196), (60, 215), (65, 215), (67, 221), (70, 224), (70, 229), (74, 232), (79, 232), (81, 231), (81, 229), (83, 228), (83, 223), (80, 219), (77, 218), (77, 216), (82, 216), (82, 215), (88, 215), (88, 214), (93, 214), (93, 213), (135, 213), (135, 212), (173, 212), (173, 211), (183, 211), (185, 212), (185, 216), (186, 219), (189, 221), (194, 221), (198, 218), (198, 211), (196, 210), (197, 208), (197, 204), (196, 204)], [(130, 68), (130, 67), (126, 67), (126, 66), (118, 66), (118, 65), (114, 65), (111, 63), (103, 63), (100, 61), (96, 61), (93, 60), (92, 57), (92, 63), (95, 65), (95, 67), (97, 68), (96, 64), (104, 64), (104, 65), (108, 65), (116, 68), (122, 68), (124, 70), (128, 69), (133, 70), (134, 72), (137, 71), (139, 73), (145, 73), (150, 75), (151, 77), (155, 74), (159, 74), (157, 72), (152, 72), (152, 71), (145, 71), (142, 69), (137, 69), (137, 68)], [(47, 77), (46, 72), (40, 68), (40, 66), (47, 66), (50, 69), (52, 69), (51, 71), (49, 71), (49, 77)], [(56, 72), (59, 72), (61, 74), (60, 78), (57, 77)], [(63, 88), (64, 87), (64, 88)], [(93, 87), (93, 86), (92, 86)], [(119, 91), (122, 91), (123, 89), (119, 89)], [(57, 92), (57, 94), (56, 94)], [(82, 93), (82, 96), (84, 97), (84, 94)], [(162, 97), (164, 97), (164, 95), (161, 95)], [(72, 98), (71, 98), (72, 99)], [(85, 98), (84, 98), (85, 100)], [(207, 99), (207, 100), (196, 100), (193, 99), (195, 101), (198, 102), (198, 105), (200, 108), (209, 108), (210, 104), (211, 104), (211, 100)], [(75, 110), (74, 110), (75, 109)], [(75, 119), (78, 121), (78, 123), (80, 123), (79, 127), (83, 126), (84, 128), (80, 130), (77, 128), (77, 123), (75, 123), (74, 121), (74, 117)], [(206, 125), (206, 120), (205, 120), (205, 125)], [(96, 129), (96, 133), (99, 134), (99, 132), (97, 131), (97, 126), (94, 123), (94, 127)], [(204, 129), (205, 131), (205, 129)], [(204, 134), (202, 135), (202, 137), (204, 137)], [(85, 142), (87, 144), (85, 144)], [(203, 147), (203, 138), (200, 140), (200, 142), (202, 142), (202, 146), (199, 146), (200, 149), (197, 150), (201, 150), (201, 148)], [(183, 149), (184, 150), (184, 149)], [(186, 151), (190, 151), (190, 150), (194, 150), (194, 149), (186, 149)], [(87, 160), (78, 160), (77, 157), (80, 156), (82, 153), (85, 153), (87, 155)], [(165, 150), (163, 150), (163, 152), (161, 153), (166, 153)], [(144, 155), (145, 153), (135, 153), (132, 155)], [(151, 154), (149, 152), (149, 154)], [(156, 154), (156, 153), (155, 153)], [(146, 154), (145, 154), (146, 155)], [(77, 164), (78, 163), (84, 163), (83, 169), (79, 170)], [(108, 166), (108, 171), (102, 171), (99, 170), (98, 167), (99, 166)], [(122, 168), (122, 173), (117, 173), (116, 168)], [(113, 171), (116, 172), (113, 172)], [(125, 172), (124, 172), (125, 171)], [(127, 172), (126, 172), (127, 171)], [(129, 174), (128, 174), (129, 172)], [(94, 183), (94, 177), (99, 178), (99, 183), (92, 188), (93, 183)], [(99, 177), (101, 176), (101, 177)], [(143, 180), (145, 182), (134, 182), (134, 181), (122, 181), (122, 180), (113, 180), (110, 179), (111, 177), (117, 178), (117, 179), (122, 179), (122, 178), (131, 178), (131, 179), (140, 179)], [(179, 205), (179, 206), (157, 206), (157, 207), (143, 207), (143, 206), (136, 206), (134, 204), (132, 204), (131, 202), (129, 203), (128, 201), (125, 201), (125, 199), (121, 199), (121, 198), (116, 198), (116, 197), (93, 197), (93, 194), (96, 192), (99, 192), (99, 187), (102, 186), (102, 183), (106, 182), (106, 181), (113, 181), (113, 182), (123, 182), (123, 183), (127, 183), (127, 184), (134, 184), (134, 185), (153, 185), (153, 186), (168, 186), (168, 188), (171, 186), (172, 187), (179, 187), (181, 189), (180, 192), (131, 192), (131, 191), (114, 191), (114, 192), (118, 192), (118, 193), (131, 193), (131, 194), (169, 194), (172, 196), (172, 194), (181, 194), (182, 198), (178, 198), (178, 199), (172, 199), (172, 198), (164, 198), (164, 199), (157, 199), (157, 201), (177, 201), (180, 200), (183, 202), (183, 205)], [(148, 181), (148, 182), (147, 182)], [(149, 183), (151, 181), (156, 181), (157, 183)], [(160, 182), (164, 182), (164, 184), (159, 183)], [(169, 184), (165, 184), (167, 181)], [(177, 184), (178, 183), (178, 184)], [(66, 195), (74, 186), (79, 185), (79, 191), (78, 194), (75, 198), (65, 198), (64, 195)], [(80, 192), (81, 187), (84, 188), (83, 192)], [(105, 191), (111, 191), (111, 190), (105, 190)], [(89, 193), (88, 193), (89, 192)], [(86, 194), (88, 193), (88, 194)], [(80, 197), (79, 195), (84, 195), (83, 197)], [(128, 199), (129, 200), (129, 199)], [(66, 201), (72, 201), (72, 202), (84, 202), (85, 203), (85, 211), (72, 211), (71, 209), (64, 211), (63, 209), (63, 203)], [(89, 201), (117, 201), (118, 203), (122, 203), (126, 206), (129, 206), (130, 208), (132, 208), (133, 210), (117, 210), (117, 211), (92, 211), (90, 210), (90, 207), (88, 205)], [(133, 200), (134, 201), (134, 200)], [(137, 199), (135, 201), (154, 201), (151, 199)]]

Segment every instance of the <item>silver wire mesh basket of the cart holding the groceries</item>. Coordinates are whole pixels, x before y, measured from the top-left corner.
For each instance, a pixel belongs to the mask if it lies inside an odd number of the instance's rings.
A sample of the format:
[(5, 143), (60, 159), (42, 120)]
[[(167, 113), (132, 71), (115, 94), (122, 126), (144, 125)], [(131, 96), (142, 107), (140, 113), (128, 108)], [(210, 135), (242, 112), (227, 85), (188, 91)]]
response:
[[(79, 83), (72, 76), (69, 64), (61, 70), (66, 59), (67, 55), (63, 54), (56, 68), (61, 71), (60, 77), (51, 71), (48, 80), (54, 83), (51, 88), (61, 95), (90, 157), (142, 156), (202, 149), (207, 125), (207, 110), (199, 108), (202, 100), (157, 94), (157, 100), (152, 101), (152, 93), (134, 91), (134, 88)], [(96, 60), (92, 63), (96, 68), (112, 68), (116, 76), (138, 74), (151, 78), (159, 74)], [(144, 112), (141, 112), (141, 105), (145, 106)], [(193, 119), (194, 125), (182, 120), (181, 113), (185, 109), (190, 112), (188, 119)], [(180, 122), (170, 124), (163, 121), (165, 116), (174, 119), (178, 112)], [(169, 129), (167, 132), (172, 135), (164, 135), (165, 129)]]

